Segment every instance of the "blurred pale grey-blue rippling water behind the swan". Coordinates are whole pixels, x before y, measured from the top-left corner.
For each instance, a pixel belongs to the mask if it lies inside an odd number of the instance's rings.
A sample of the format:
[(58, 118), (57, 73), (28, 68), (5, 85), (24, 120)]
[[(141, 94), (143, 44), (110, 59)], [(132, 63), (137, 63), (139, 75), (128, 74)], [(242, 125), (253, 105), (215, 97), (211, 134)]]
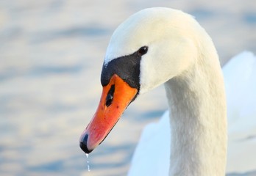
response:
[(0, 175), (125, 175), (141, 129), (167, 109), (163, 87), (129, 106), (90, 155), (91, 172), (79, 136), (101, 95), (113, 30), (157, 6), (194, 15), (222, 64), (243, 50), (256, 52), (254, 0), (0, 1)]

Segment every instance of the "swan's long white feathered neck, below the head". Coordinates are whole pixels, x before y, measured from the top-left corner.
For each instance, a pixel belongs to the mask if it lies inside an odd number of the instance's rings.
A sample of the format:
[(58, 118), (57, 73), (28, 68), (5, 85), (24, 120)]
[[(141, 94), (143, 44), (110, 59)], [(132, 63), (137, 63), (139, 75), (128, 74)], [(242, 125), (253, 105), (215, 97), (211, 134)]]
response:
[(187, 73), (165, 84), (171, 111), (170, 175), (225, 173), (227, 125), (223, 76), (219, 65), (207, 67), (209, 64), (204, 62), (202, 59), (201, 65), (193, 65)]

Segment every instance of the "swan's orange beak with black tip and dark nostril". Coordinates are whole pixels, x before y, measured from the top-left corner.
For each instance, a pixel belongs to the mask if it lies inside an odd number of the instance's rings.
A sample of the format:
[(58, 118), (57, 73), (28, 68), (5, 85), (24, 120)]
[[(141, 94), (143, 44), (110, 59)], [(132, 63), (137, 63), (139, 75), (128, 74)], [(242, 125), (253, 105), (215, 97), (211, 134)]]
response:
[(80, 137), (80, 147), (85, 153), (102, 143), (137, 93), (138, 89), (130, 87), (116, 74), (110, 78), (109, 84), (103, 87), (93, 119)]

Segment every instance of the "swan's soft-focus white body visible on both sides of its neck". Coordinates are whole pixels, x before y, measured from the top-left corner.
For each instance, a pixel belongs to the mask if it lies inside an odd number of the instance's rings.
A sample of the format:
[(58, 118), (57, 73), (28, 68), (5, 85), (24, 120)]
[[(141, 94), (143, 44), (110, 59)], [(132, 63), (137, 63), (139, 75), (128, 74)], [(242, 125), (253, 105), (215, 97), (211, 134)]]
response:
[[(256, 174), (256, 56), (250, 52), (238, 54), (223, 67), (223, 73), (229, 126), (227, 173)], [(128, 175), (168, 175), (169, 138), (166, 111), (159, 122), (143, 129)], [(161, 150), (153, 153), (158, 146)]]

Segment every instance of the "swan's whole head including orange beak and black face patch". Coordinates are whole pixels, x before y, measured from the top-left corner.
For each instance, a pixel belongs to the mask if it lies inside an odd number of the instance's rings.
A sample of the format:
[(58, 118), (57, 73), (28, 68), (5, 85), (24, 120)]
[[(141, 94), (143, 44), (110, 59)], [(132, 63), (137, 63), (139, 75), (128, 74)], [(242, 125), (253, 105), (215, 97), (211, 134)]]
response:
[(85, 153), (105, 139), (137, 95), (182, 75), (193, 64), (193, 30), (198, 27), (188, 14), (157, 7), (135, 13), (115, 29), (102, 67), (102, 98), (80, 137)]

